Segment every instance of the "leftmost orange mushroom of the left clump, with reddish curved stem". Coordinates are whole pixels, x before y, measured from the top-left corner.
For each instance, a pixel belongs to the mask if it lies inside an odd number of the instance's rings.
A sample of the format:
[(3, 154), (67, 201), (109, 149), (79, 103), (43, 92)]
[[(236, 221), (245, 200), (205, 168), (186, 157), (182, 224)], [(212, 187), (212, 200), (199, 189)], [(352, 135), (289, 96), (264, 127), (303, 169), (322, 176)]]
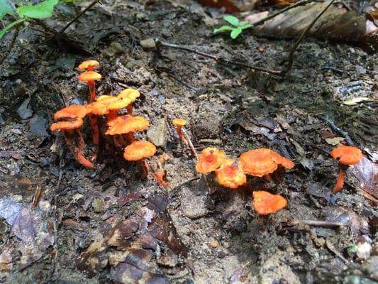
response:
[[(87, 158), (85, 158), (82, 153), (82, 150), (84, 148), (84, 138), (82, 136), (82, 133), (79, 131), (79, 127), (82, 126), (82, 124), (82, 118), (69, 118), (65, 121), (55, 122), (50, 126), (50, 129), (51, 131), (61, 131), (63, 133), (67, 146), (70, 149), (70, 152), (79, 163), (81, 163), (87, 168), (94, 168), (93, 163), (87, 160)], [(74, 132), (78, 133), (79, 135), (78, 146), (76, 146), (74, 143)]]

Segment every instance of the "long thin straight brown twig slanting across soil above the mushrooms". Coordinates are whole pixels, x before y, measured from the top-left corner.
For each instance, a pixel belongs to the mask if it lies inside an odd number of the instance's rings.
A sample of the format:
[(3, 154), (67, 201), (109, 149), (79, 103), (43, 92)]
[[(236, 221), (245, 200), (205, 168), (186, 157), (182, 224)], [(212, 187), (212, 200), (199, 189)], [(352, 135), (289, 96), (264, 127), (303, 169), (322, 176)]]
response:
[(209, 53), (204, 53), (204, 52), (199, 51), (199, 50), (194, 50), (194, 49), (189, 48), (189, 47), (184, 46), (184, 45), (175, 45), (173, 43), (166, 43), (164, 41), (159, 40), (158, 38), (155, 39), (155, 44), (156, 44), (156, 47), (157, 47), (158, 50), (162, 46), (164, 46), (165, 48), (174, 48), (174, 49), (179, 49), (179, 50), (186, 50), (186, 51), (189, 51), (190, 53), (195, 53), (195, 54), (204, 56), (206, 58), (211, 58), (213, 60), (216, 60), (216, 61), (221, 62), (221, 63), (226, 64), (226, 65), (227, 64), (236, 65), (236, 66), (240, 66), (240, 67), (249, 68), (249, 69), (252, 69), (252, 70), (258, 70), (258, 71), (261, 71), (261, 72), (270, 73), (270, 74), (273, 74), (273, 75), (280, 75), (281, 74), (281, 71), (269, 70), (269, 69), (257, 67), (257, 66), (254, 66), (254, 65), (249, 65), (249, 64), (243, 63), (243, 62), (237, 62), (237, 61), (229, 60), (227, 58), (221, 58), (220, 56), (211, 55)]

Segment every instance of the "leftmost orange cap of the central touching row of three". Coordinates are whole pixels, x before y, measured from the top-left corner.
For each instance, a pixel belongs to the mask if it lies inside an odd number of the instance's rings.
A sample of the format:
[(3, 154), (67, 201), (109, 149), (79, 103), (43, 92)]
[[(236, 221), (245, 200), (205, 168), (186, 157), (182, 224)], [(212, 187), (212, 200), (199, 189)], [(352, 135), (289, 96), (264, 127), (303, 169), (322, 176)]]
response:
[(226, 153), (217, 148), (204, 148), (198, 156), (196, 163), (197, 173), (210, 173), (221, 166), (226, 160)]

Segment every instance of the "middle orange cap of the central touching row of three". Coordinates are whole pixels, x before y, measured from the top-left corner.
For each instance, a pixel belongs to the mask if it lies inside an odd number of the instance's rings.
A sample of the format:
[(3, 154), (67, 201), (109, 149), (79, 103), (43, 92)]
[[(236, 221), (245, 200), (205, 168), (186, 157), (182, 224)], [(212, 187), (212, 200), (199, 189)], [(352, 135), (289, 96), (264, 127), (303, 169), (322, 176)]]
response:
[(247, 182), (247, 176), (238, 168), (236, 160), (228, 159), (216, 170), (216, 180), (224, 187), (237, 188)]

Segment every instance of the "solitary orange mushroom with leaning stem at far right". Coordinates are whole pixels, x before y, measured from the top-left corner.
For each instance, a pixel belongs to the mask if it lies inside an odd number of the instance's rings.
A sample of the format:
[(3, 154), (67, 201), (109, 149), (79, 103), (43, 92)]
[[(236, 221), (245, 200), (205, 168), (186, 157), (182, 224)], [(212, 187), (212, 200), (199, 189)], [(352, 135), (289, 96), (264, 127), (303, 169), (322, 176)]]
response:
[(336, 180), (336, 185), (333, 187), (332, 193), (338, 193), (344, 185), (345, 173), (348, 170), (349, 165), (355, 165), (360, 162), (362, 158), (362, 152), (359, 148), (354, 146), (339, 146), (333, 148), (330, 151), (330, 155), (334, 159), (338, 159), (340, 170), (338, 173), (338, 179)]

